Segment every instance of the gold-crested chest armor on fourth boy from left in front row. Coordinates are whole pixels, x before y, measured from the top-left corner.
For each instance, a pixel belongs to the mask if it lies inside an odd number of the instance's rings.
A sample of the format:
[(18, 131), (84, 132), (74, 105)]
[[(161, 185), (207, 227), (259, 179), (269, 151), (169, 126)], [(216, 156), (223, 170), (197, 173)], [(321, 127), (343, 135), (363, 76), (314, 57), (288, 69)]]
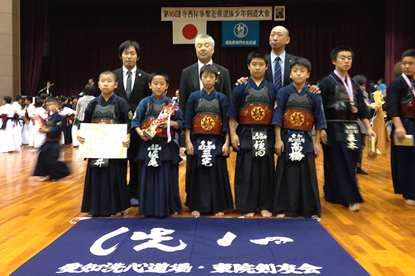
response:
[(239, 124), (271, 124), (274, 109), (267, 86), (255, 90), (248, 85), (245, 103), (239, 109)]

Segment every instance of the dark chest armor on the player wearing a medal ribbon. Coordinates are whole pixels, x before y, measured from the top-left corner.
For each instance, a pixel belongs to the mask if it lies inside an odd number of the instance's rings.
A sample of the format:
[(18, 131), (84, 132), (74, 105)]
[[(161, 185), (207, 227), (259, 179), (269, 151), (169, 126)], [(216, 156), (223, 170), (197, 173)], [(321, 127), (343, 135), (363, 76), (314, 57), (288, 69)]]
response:
[[(355, 93), (355, 91), (353, 91), (353, 93)], [(357, 98), (356, 94), (355, 98)], [(359, 106), (357, 106), (357, 108), (359, 108)], [(346, 89), (344, 86), (338, 84), (336, 84), (334, 88), (334, 97), (331, 100), (328, 100), (324, 106), (324, 113), (326, 114), (327, 121), (357, 121), (357, 113), (352, 112)]]

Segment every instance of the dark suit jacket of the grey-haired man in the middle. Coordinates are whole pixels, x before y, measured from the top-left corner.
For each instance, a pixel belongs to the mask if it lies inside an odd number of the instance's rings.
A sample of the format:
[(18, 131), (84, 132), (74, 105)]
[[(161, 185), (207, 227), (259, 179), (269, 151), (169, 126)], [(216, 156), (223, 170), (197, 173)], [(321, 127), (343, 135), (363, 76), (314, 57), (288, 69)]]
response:
[[(219, 75), (217, 83), (215, 84), (215, 90), (217, 92), (224, 93), (229, 102), (231, 101), (231, 77), (229, 77), (229, 70), (225, 67), (213, 63), (219, 69)], [(179, 88), (179, 107), (180, 110), (185, 114), (186, 112), (186, 103), (189, 99), (191, 93), (195, 91), (200, 91), (200, 81), (198, 76), (198, 63), (190, 65), (189, 67), (184, 68), (181, 72), (180, 79), (180, 88)]]

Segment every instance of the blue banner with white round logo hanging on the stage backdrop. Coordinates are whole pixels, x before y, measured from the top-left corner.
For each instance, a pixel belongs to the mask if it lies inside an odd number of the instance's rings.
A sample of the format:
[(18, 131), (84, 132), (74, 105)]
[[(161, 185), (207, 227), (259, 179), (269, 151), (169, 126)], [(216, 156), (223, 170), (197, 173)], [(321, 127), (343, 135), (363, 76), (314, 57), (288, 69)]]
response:
[(222, 46), (260, 46), (260, 21), (222, 21)]

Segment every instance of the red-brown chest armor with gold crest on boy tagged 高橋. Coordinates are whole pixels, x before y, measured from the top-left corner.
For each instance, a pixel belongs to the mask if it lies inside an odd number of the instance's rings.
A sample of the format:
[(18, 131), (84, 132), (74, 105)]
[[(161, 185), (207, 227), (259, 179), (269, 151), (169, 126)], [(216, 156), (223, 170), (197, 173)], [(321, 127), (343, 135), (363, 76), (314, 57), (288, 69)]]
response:
[(283, 127), (300, 131), (312, 131), (315, 114), (312, 112), (312, 104), (306, 94), (298, 95), (290, 92), (288, 101), (284, 106)]

